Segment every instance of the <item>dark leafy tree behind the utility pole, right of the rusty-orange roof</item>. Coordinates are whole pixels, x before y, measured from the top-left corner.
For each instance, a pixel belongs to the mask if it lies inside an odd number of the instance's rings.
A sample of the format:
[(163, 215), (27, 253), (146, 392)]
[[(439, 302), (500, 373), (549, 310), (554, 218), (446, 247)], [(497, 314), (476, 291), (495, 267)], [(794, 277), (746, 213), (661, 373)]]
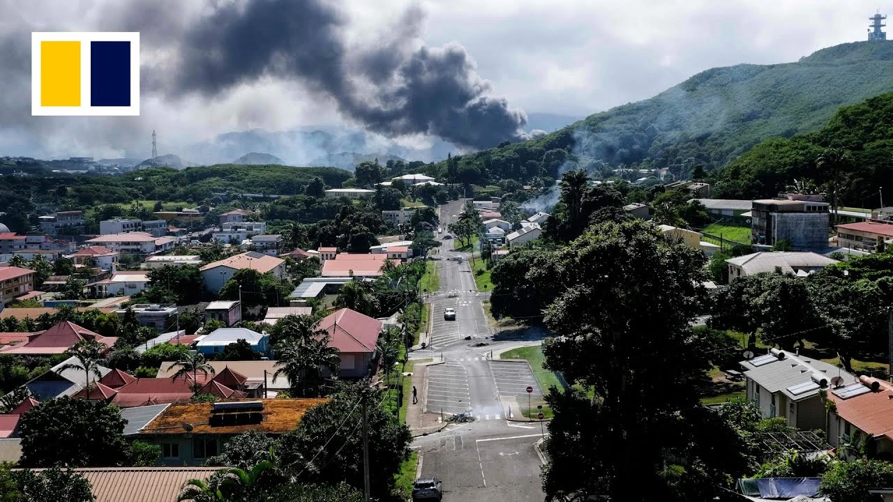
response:
[[(335, 485), (341, 481), (363, 488), (363, 439), (357, 425), (366, 401), (371, 495), (391, 492), (394, 475), (410, 454), (412, 433), (394, 414), (379, 406), (378, 392), (368, 381), (345, 385), (329, 401), (313, 406), (295, 431), (280, 438), (282, 464), (295, 465), (298, 481)], [(348, 425), (353, 424), (353, 425)], [(342, 426), (343, 425), (343, 426)]]

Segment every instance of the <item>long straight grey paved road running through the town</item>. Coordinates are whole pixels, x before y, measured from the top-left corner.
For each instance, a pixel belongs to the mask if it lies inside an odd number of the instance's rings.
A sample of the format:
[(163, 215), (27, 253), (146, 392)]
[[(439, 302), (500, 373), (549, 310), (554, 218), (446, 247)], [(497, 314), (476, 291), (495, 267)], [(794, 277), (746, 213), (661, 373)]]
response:
[[(441, 206), (440, 222), (453, 222), (462, 204)], [(470, 255), (453, 251), (453, 241), (447, 239), (438, 256), (440, 290), (429, 296), (434, 315), (431, 345), (414, 352), (413, 358), (433, 357), (443, 364), (426, 367), (423, 409), (438, 418), (441, 408), (444, 418), (469, 411), (475, 420), (413, 441), (420, 453), (421, 475), (443, 481), (445, 501), (543, 500), (542, 463), (533, 448), (542, 436), (541, 428), (536, 423), (506, 421), (500, 399), (501, 392), (515, 396), (519, 389), (526, 389), (532, 375), (519, 364), (497, 362), (491, 367), (489, 361), (490, 350), (524, 345), (524, 341), (493, 339), (481, 305), (489, 294), (476, 290), (467, 262)], [(462, 260), (448, 259), (455, 257)], [(455, 308), (455, 321), (443, 319), (447, 306)]]

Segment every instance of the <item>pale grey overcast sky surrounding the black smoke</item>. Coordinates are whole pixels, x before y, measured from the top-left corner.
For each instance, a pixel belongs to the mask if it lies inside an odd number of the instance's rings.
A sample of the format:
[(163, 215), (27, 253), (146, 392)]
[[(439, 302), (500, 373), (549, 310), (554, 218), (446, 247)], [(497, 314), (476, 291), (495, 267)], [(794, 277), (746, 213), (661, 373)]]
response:
[[(197, 77), (198, 71), (192, 75), (188, 65), (167, 62), (181, 55), (190, 31), (201, 33), (195, 25), (211, 15), (211, 5), (231, 1), (0, 0), (0, 155), (121, 155), (146, 143), (152, 129), (186, 142), (231, 130), (375, 122), (380, 132), (397, 131), (406, 141), (424, 137), (414, 123), (426, 121), (424, 116), (385, 120), (379, 109), (363, 107), (364, 98), (377, 101), (405, 90), (376, 93), (368, 80), (345, 98), (327, 93), (329, 76), (289, 79), (278, 70), (246, 67), (213, 92), (192, 92), (190, 81), (179, 77)], [(868, 17), (879, 6), (893, 13), (893, 3), (864, 0), (319, 1), (340, 16), (334, 32), (345, 40), (345, 61), (354, 67), (364, 64), (369, 47), (381, 49), (377, 58), (422, 46), (435, 52), (447, 44), (464, 47), (467, 54), (455, 54), (475, 63), (476, 74), (468, 71), (463, 82), (480, 96), (505, 98), (502, 105), (488, 102), (505, 111), (505, 134), (513, 133), (516, 111), (585, 116), (654, 96), (714, 66), (797, 61), (822, 47), (864, 40)], [(410, 28), (404, 33), (401, 26)], [(143, 115), (31, 117), (29, 32), (117, 29), (139, 30), (143, 71), (153, 65)], [(299, 63), (293, 66), (307, 67)], [(348, 74), (346, 80), (355, 79)], [(474, 120), (459, 117), (440, 130)]]

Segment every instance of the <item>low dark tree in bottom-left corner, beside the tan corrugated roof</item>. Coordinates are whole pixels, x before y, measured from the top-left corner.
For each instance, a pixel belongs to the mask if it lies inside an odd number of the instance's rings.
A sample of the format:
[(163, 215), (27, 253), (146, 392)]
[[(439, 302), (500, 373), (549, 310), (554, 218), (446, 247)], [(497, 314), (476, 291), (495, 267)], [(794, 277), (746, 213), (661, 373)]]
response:
[(23, 469), (13, 473), (19, 491), (28, 502), (93, 502), (90, 481), (71, 469), (51, 467), (34, 472)]

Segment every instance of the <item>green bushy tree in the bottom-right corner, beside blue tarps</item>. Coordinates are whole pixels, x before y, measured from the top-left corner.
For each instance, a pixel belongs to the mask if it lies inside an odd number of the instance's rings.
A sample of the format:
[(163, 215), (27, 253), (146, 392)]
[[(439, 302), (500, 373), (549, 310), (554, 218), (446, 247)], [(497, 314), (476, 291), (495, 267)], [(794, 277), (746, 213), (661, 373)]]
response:
[(821, 491), (834, 502), (881, 502), (872, 488), (893, 486), (893, 464), (860, 458), (853, 462), (832, 462), (822, 475)]

